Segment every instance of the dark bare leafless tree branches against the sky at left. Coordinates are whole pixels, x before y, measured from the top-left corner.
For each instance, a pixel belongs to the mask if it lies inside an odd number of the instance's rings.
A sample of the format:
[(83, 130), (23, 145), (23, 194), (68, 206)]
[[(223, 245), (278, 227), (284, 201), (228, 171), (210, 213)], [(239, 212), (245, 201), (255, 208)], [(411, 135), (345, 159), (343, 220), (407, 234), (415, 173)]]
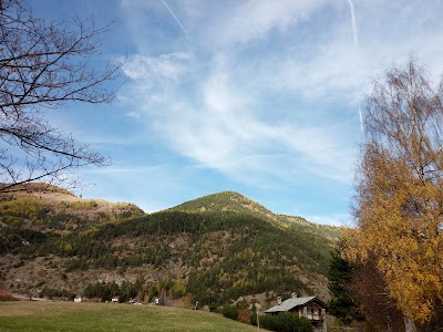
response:
[(35, 180), (66, 184), (71, 170), (109, 163), (44, 120), (43, 108), (115, 97), (105, 84), (123, 63), (102, 70), (93, 63), (111, 24), (96, 28), (92, 18), (74, 23), (71, 31), (34, 18), (21, 0), (0, 0), (0, 193)]

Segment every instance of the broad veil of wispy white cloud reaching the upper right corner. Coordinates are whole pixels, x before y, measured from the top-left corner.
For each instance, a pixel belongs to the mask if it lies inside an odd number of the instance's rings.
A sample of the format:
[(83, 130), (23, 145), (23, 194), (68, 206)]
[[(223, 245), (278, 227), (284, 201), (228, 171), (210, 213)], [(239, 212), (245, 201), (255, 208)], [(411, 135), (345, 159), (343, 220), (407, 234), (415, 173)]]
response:
[(146, 141), (248, 186), (349, 195), (373, 77), (410, 54), (443, 71), (437, 1), (168, 1), (188, 34), (157, 2), (122, 0), (123, 104)]

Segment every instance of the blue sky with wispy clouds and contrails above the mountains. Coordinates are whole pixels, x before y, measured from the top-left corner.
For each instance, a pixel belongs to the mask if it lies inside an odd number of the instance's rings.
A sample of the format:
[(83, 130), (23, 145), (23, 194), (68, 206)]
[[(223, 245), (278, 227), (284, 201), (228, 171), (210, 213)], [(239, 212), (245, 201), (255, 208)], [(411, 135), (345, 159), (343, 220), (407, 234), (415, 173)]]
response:
[(238, 191), (277, 214), (351, 225), (374, 80), (413, 55), (443, 72), (443, 2), (27, 0), (35, 17), (93, 17), (103, 62), (125, 60), (112, 104), (49, 114), (112, 159), (78, 172), (84, 198), (154, 212)]

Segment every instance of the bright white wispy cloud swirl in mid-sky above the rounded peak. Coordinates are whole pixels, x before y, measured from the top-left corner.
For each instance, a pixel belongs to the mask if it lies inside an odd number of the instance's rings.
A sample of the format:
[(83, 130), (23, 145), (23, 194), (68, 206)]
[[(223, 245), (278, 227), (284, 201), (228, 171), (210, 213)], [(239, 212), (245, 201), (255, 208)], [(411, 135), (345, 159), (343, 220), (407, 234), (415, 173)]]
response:
[[(260, 101), (238, 86), (226, 62), (217, 60), (213, 65), (205, 77), (199, 77), (195, 100), (179, 90), (163, 91), (164, 97), (155, 101), (138, 96), (138, 113), (150, 116), (150, 125), (169, 148), (243, 183), (259, 185), (266, 176), (290, 181), (293, 169), (349, 180), (352, 153), (342, 147), (333, 132), (303, 123), (296, 127), (276, 125), (269, 117), (260, 118), (256, 114)], [(133, 79), (138, 87), (143, 82), (143, 76)], [(278, 111), (270, 116), (278, 117)]]

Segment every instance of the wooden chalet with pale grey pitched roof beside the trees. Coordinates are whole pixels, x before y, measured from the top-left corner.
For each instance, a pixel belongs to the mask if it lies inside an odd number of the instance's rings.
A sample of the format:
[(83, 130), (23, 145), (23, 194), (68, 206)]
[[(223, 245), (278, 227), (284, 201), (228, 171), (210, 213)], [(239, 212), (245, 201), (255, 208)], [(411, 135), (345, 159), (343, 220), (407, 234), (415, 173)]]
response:
[(281, 301), (278, 297), (277, 305), (269, 308), (265, 313), (277, 314), (286, 311), (297, 317), (306, 317), (311, 321), (316, 332), (326, 332), (326, 303), (316, 297), (297, 298), (297, 294), (292, 293), (292, 298), (286, 301)]

